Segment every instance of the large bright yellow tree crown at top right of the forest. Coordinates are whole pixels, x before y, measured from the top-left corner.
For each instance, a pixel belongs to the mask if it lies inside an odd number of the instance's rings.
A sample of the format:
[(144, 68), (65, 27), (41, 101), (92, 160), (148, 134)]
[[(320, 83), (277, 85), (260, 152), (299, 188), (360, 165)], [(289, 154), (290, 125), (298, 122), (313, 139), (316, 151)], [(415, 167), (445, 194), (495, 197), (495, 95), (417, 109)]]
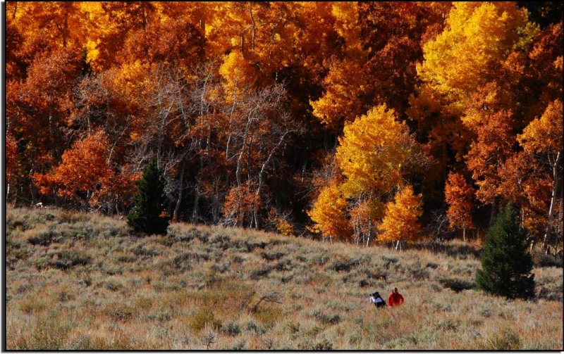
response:
[(515, 46), (531, 41), (527, 9), (514, 3), (460, 2), (453, 6), (445, 30), (423, 46), (419, 76), (453, 101), (496, 78), (494, 63)]

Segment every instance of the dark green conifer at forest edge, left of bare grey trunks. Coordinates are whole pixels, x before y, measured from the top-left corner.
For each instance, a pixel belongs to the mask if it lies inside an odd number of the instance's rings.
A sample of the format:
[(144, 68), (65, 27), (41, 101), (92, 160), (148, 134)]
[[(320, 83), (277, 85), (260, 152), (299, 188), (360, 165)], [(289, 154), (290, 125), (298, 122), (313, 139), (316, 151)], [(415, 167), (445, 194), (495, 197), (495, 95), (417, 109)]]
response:
[(128, 225), (133, 231), (166, 234), (168, 217), (161, 216), (167, 205), (164, 195), (165, 183), (161, 171), (157, 168), (157, 162), (152, 158), (143, 170), (142, 179), (137, 182), (135, 206), (128, 215)]

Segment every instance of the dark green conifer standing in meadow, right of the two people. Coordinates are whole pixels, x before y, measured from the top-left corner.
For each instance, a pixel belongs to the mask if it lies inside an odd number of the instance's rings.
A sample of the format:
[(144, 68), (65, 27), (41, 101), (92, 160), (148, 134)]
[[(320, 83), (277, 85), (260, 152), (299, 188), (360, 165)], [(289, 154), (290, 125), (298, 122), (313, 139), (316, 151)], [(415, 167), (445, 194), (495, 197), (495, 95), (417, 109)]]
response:
[(476, 273), (479, 289), (506, 298), (534, 298), (533, 262), (526, 239), (527, 233), (508, 203), (486, 235), (482, 269)]

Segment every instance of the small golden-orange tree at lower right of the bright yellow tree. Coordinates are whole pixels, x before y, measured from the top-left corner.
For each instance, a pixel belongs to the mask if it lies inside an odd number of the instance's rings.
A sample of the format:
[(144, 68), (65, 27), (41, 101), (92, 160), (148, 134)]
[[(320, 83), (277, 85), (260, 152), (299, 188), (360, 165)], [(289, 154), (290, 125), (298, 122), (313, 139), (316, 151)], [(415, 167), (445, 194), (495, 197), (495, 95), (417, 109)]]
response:
[(413, 194), (413, 188), (407, 185), (396, 193), (394, 201), (386, 203), (386, 215), (379, 225), (380, 241), (389, 242), (399, 239), (415, 241), (421, 231), (419, 217), (422, 215), (421, 195)]

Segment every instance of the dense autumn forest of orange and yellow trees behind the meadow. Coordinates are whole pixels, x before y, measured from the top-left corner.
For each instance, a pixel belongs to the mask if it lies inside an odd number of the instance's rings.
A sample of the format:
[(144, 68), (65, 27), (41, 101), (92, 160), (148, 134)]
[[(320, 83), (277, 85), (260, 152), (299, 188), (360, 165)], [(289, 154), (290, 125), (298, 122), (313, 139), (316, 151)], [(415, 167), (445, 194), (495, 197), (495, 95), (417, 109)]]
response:
[[(562, 248), (562, 4), (6, 4), (6, 198), (350, 241)], [(398, 243), (399, 244), (399, 243)]]

